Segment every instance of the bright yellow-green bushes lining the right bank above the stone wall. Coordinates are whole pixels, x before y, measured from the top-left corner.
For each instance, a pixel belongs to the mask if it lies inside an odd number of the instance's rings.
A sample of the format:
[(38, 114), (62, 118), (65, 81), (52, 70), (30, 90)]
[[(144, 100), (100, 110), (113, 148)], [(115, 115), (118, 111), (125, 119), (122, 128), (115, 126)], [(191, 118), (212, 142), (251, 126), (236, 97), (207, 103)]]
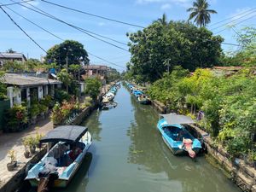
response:
[(229, 78), (215, 77), (207, 69), (197, 69), (189, 76), (176, 68), (154, 82), (148, 94), (179, 113), (202, 110), (201, 127), (237, 156), (252, 147), (250, 136), (256, 131), (256, 92), (252, 90), (256, 90), (253, 68)]

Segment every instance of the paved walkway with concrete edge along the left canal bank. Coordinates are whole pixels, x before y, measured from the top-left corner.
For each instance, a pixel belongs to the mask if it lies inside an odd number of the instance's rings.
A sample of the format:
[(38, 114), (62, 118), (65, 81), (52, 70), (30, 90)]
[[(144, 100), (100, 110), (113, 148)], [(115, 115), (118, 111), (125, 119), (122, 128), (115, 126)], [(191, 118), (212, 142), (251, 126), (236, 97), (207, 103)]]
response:
[[(113, 83), (114, 84), (114, 83)], [(98, 96), (99, 101), (95, 102), (92, 106), (84, 108), (84, 110), (78, 114), (78, 116), (73, 119), (71, 125), (79, 125), (81, 122), (87, 118), (93, 110), (98, 106), (103, 95), (108, 92), (113, 84), (106, 84), (102, 86), (100, 95)], [(49, 116), (46, 119), (38, 121), (37, 125), (32, 125), (29, 129), (17, 133), (5, 133), (0, 135), (1, 144), (1, 178), (0, 178), (0, 192), (11, 192), (11, 191), (28, 191), (30, 187), (29, 183), (24, 182), (26, 177), (26, 172), (28, 167), (36, 164), (46, 153), (45, 148), (42, 150), (38, 149), (37, 153), (32, 155), (30, 158), (24, 157), (25, 147), (22, 144), (22, 139), (28, 136), (35, 136), (37, 133), (45, 135), (48, 131), (54, 128), (52, 121)], [(37, 129), (38, 127), (38, 129)], [(15, 150), (15, 155), (17, 156), (17, 167), (13, 172), (9, 172), (6, 168), (6, 164), (9, 162), (9, 157), (7, 156), (10, 149)]]

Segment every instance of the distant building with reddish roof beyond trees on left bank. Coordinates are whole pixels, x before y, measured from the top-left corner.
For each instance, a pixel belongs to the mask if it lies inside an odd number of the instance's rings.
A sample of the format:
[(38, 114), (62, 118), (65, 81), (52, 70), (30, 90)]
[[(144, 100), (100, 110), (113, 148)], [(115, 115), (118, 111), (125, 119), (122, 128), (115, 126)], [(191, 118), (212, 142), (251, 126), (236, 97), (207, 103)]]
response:
[(86, 78), (98, 78), (101, 80), (102, 84), (106, 84), (106, 80), (108, 77), (109, 67), (103, 65), (89, 65), (84, 66), (84, 74), (82, 73), (82, 77)]

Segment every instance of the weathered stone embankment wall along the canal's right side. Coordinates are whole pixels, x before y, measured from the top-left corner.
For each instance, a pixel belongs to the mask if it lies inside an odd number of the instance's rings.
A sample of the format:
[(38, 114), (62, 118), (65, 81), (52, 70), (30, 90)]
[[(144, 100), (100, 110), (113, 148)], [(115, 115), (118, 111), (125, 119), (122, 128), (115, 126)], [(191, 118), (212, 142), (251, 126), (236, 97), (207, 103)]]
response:
[[(151, 103), (160, 113), (171, 112), (159, 101), (153, 100)], [(221, 145), (217, 145), (206, 131), (196, 125), (189, 125), (188, 129), (195, 137), (202, 139), (208, 154), (207, 160), (210, 163), (218, 164), (219, 170), (223, 171), (243, 191), (256, 191), (256, 170), (252, 166), (248, 166), (245, 160), (231, 158)]]

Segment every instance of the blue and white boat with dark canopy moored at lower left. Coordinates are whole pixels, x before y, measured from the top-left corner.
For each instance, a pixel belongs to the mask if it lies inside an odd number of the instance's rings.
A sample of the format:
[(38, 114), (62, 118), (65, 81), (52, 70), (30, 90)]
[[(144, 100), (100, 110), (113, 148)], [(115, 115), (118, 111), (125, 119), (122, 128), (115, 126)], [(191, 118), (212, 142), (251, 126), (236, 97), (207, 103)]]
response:
[[(72, 180), (81, 166), (84, 155), (92, 143), (88, 129), (78, 125), (62, 125), (49, 131), (40, 143), (56, 143), (44, 157), (28, 171), (26, 180), (33, 187), (54, 172), (56, 179), (52, 187), (64, 188)], [(44, 177), (41, 177), (44, 175)], [(47, 175), (47, 176), (45, 176)]]

